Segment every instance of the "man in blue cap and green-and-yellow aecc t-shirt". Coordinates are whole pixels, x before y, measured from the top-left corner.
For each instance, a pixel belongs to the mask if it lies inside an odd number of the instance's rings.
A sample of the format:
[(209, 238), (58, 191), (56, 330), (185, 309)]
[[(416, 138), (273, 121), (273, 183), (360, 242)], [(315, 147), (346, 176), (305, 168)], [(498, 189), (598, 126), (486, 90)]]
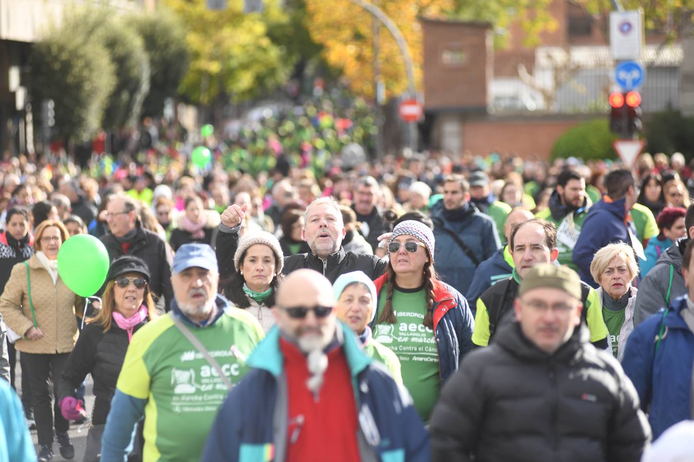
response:
[(199, 461), (217, 410), (263, 337), (251, 314), (217, 295), (212, 247), (181, 246), (172, 273), (171, 312), (138, 330), (128, 347), (103, 433), (103, 462), (124, 460), (143, 416), (145, 461)]

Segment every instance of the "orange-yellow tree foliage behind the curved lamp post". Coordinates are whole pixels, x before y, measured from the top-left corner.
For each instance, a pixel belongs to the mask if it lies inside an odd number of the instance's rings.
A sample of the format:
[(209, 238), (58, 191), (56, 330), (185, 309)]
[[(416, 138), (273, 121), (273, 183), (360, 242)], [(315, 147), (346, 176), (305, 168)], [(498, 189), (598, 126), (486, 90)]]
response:
[[(305, 0), (306, 27), (314, 42), (324, 47), (323, 56), (341, 69), (356, 94), (374, 97), (373, 16), (350, 0)], [(423, 61), (420, 16), (436, 17), (450, 11), (452, 0), (374, 0), (405, 37), (414, 61), (414, 80), (421, 91)], [(405, 60), (396, 40), (384, 26), (380, 32), (380, 73), (387, 98), (407, 91)]]

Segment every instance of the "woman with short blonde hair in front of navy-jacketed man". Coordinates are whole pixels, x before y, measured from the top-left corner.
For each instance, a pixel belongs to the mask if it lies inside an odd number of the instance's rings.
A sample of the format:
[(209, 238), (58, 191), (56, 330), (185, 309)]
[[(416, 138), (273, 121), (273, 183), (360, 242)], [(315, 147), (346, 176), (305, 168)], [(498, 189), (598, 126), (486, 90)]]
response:
[(636, 287), (632, 281), (638, 276), (638, 265), (631, 246), (620, 242), (598, 250), (591, 263), (591, 276), (600, 287), (602, 319), (607, 331), (608, 350), (622, 360), (627, 338), (634, 330)]

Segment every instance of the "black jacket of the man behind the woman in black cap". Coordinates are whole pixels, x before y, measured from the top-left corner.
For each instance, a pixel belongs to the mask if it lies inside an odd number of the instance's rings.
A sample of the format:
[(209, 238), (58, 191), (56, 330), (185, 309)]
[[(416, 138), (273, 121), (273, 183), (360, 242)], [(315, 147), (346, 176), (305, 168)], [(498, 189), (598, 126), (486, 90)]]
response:
[[(111, 261), (125, 255), (120, 242), (111, 233), (101, 236), (101, 242), (106, 246)], [(149, 287), (156, 296), (157, 308), (169, 311), (169, 304), (174, 299), (174, 290), (171, 288), (173, 259), (166, 242), (155, 233), (138, 227), (137, 236), (128, 248), (128, 255), (142, 258), (147, 264), (150, 272)]]

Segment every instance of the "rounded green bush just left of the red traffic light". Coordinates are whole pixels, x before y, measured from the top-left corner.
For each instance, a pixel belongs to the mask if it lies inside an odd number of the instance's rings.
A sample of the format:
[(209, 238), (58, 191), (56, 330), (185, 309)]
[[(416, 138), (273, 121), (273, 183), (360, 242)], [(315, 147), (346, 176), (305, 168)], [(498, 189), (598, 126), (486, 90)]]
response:
[(616, 159), (612, 142), (616, 135), (609, 131), (607, 118), (582, 122), (566, 130), (552, 146), (551, 159)]

